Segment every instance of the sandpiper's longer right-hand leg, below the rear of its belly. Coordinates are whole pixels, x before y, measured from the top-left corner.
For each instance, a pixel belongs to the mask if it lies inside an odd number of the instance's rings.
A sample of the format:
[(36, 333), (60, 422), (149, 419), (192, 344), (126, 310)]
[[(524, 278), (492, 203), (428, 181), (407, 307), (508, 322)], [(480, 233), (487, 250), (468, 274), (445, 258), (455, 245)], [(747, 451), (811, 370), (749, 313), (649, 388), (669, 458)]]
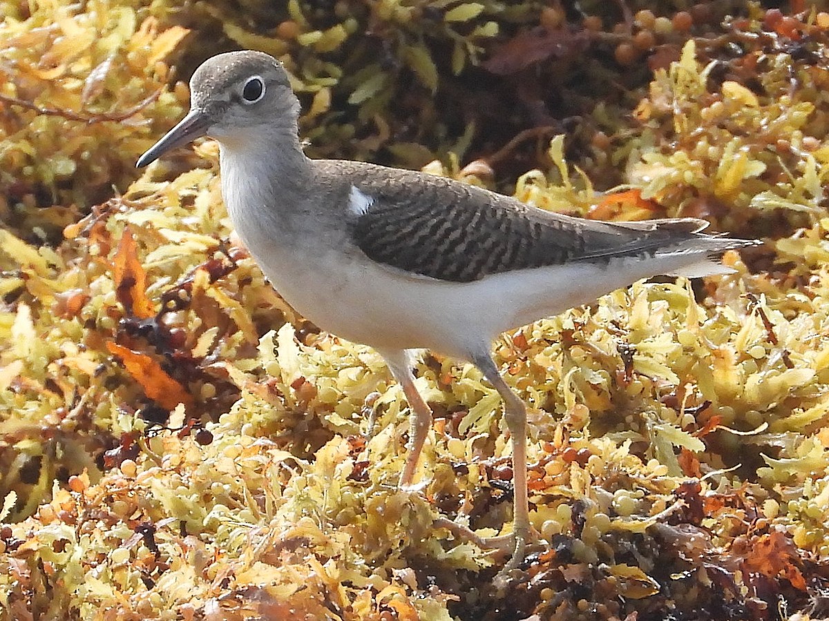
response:
[[(530, 509), (526, 493), (526, 404), (509, 387), (507, 382), (498, 373), (498, 368), (492, 362), (489, 354), (478, 356), (473, 363), (481, 369), (489, 383), (498, 391), (504, 400), (504, 418), (507, 429), (510, 431), (512, 443), (512, 480), (513, 480), (513, 527), (515, 546), (512, 557), (504, 570), (516, 568), (524, 561), (526, 544), (530, 538)], [(485, 542), (487, 540), (484, 540)], [(495, 543), (495, 542), (492, 542)]]

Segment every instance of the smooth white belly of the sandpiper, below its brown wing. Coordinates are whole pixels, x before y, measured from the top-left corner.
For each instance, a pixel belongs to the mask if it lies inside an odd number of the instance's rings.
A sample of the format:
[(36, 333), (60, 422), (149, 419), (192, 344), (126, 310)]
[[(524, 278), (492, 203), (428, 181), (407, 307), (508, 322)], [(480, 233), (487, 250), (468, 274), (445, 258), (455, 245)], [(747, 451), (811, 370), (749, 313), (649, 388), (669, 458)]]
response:
[(505, 330), (628, 284), (618, 281), (615, 270), (590, 264), (442, 282), (407, 277), (368, 258), (347, 258), (331, 249), (298, 256), (276, 246), (267, 253), (250, 249), (285, 301), (322, 330), (381, 351), (431, 349), (469, 359)]

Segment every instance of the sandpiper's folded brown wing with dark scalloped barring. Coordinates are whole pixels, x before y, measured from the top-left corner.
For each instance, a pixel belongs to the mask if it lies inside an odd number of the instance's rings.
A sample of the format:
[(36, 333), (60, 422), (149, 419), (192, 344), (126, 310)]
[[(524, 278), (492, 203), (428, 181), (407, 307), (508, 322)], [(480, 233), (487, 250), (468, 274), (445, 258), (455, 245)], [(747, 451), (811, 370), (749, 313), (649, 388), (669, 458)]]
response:
[(348, 179), (371, 200), (351, 220), (356, 246), (376, 262), (438, 280), (472, 282), (531, 267), (652, 255), (696, 237), (706, 224), (594, 222), (442, 177), (348, 164)]

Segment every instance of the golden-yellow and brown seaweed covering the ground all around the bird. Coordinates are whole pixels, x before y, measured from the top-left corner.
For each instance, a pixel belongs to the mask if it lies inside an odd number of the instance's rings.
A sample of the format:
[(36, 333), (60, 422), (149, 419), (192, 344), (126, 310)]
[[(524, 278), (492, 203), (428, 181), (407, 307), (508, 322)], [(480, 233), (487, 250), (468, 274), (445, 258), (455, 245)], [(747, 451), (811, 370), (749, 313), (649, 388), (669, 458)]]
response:
[[(0, 4), (0, 617), (825, 616), (822, 7), (243, 6)], [(423, 490), (397, 489), (400, 388), (265, 282), (229, 229), (216, 144), (131, 170), (183, 113), (167, 57), (187, 66), (208, 36), (280, 55), (317, 155), (768, 240), (728, 253), (733, 274), (638, 282), (498, 341), (531, 406), (544, 542), (505, 579), (458, 527), (511, 528), (478, 370), (419, 361)], [(497, 104), (458, 122), (447, 97)], [(515, 98), (544, 114), (482, 123)]]

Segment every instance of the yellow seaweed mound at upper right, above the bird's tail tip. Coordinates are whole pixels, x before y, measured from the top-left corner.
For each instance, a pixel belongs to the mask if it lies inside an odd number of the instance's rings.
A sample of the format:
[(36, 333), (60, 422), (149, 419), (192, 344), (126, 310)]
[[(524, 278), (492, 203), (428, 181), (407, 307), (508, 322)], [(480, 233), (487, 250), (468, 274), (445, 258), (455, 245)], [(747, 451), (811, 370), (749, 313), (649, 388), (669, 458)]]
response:
[[(688, 41), (634, 111), (628, 181), (671, 213), (783, 236), (826, 213), (829, 14), (749, 5), (720, 37)], [(755, 233), (756, 234), (756, 233)]]

